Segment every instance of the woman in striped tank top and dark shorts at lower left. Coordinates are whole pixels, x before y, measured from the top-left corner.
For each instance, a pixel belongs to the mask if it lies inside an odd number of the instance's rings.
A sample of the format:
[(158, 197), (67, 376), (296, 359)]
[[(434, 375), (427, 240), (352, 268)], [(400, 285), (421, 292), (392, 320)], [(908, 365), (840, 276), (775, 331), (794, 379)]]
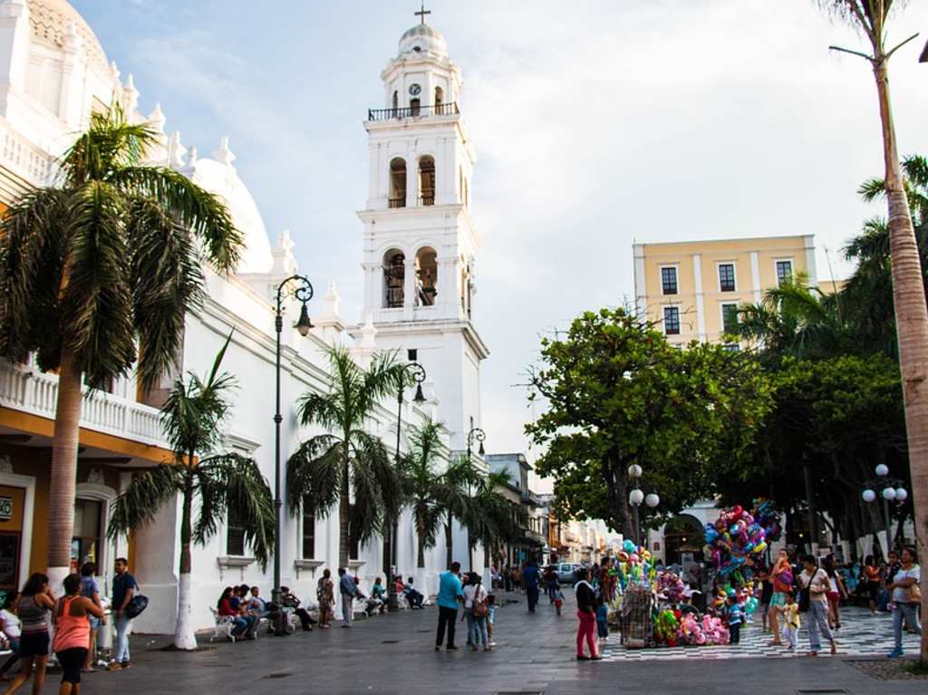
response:
[(55, 597), (48, 586), (48, 577), (34, 573), (22, 587), (17, 601), (22, 634), (19, 637), (19, 674), (9, 684), (4, 695), (12, 695), (33, 676), (32, 692), (42, 692), (45, 666), (48, 665), (48, 611), (55, 606)]

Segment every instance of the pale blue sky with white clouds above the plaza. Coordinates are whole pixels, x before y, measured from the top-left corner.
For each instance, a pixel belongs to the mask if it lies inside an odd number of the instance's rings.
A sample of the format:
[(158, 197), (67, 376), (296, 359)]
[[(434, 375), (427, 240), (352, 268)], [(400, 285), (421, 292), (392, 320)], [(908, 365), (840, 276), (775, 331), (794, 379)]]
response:
[[(148, 113), (201, 156), (222, 135), (272, 241), (289, 228), (316, 287), (361, 320), (368, 108), (418, 22), (411, 0), (71, 0)], [(632, 243), (814, 234), (819, 279), (883, 213), (857, 196), (883, 174), (862, 39), (814, 0), (433, 0), (464, 78), (483, 235), (473, 321), (489, 345), (490, 453), (525, 451), (525, 367), (539, 337), (632, 299)], [(912, 2), (889, 38), (928, 32)], [(928, 34), (926, 34), (928, 35)], [(891, 64), (903, 154), (928, 154), (925, 36)], [(432, 376), (432, 375), (430, 375)], [(433, 375), (436, 389), (440, 375)], [(542, 485), (544, 487), (544, 485)]]

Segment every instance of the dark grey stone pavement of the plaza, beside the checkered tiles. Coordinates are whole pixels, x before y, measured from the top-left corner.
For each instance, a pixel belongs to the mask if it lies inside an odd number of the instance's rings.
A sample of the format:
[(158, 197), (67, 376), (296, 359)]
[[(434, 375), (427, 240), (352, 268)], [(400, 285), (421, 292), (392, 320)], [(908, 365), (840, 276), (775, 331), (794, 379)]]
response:
[[(928, 690), (925, 681), (874, 680), (841, 657), (737, 661), (685, 658), (669, 662), (638, 658), (577, 663), (576, 619), (569, 608), (573, 596), (570, 591), (567, 594), (568, 605), (561, 618), (548, 606), (547, 599), (543, 598), (535, 614), (528, 614), (524, 598), (509, 595), (519, 602), (497, 609), (497, 646), (489, 653), (465, 649), (463, 623), (458, 623), (460, 650), (434, 651), (434, 608), (376, 616), (358, 621), (350, 630), (333, 627), (234, 645), (216, 643), (209, 645), (213, 649), (189, 654), (146, 649), (151, 638), (136, 635), (132, 642), (133, 668), (86, 675), (82, 692), (648, 695), (712, 689), (724, 695), (745, 688), (763, 688), (773, 689), (777, 695), (802, 690), (895, 695)], [(886, 616), (869, 620), (873, 634), (889, 629)], [(201, 639), (201, 643), (208, 645), (208, 638)], [(706, 653), (713, 649), (708, 648)], [(45, 692), (57, 691), (59, 677), (49, 673)]]

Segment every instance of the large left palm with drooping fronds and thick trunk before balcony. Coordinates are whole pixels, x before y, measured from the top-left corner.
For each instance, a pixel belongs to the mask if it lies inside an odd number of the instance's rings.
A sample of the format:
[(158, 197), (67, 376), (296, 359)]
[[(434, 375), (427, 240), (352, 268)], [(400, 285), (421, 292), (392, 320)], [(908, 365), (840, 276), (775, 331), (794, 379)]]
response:
[[(35, 352), (58, 371), (48, 508), (48, 573), (70, 570), (84, 380), (92, 387), (137, 363), (150, 389), (202, 299), (203, 257), (222, 272), (242, 237), (225, 205), (171, 169), (148, 166), (147, 124), (95, 113), (58, 162), (58, 183), (32, 190), (0, 221), (0, 353)], [(202, 249), (202, 251), (200, 251)]]

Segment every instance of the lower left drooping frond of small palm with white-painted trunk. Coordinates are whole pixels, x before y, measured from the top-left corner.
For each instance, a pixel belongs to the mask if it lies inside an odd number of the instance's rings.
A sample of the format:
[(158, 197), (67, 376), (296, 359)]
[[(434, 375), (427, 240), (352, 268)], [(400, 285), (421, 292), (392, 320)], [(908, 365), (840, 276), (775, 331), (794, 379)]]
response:
[(174, 464), (162, 464), (135, 475), (110, 505), (107, 537), (115, 540), (153, 521), (161, 507), (183, 490), (183, 483), (184, 470)]

